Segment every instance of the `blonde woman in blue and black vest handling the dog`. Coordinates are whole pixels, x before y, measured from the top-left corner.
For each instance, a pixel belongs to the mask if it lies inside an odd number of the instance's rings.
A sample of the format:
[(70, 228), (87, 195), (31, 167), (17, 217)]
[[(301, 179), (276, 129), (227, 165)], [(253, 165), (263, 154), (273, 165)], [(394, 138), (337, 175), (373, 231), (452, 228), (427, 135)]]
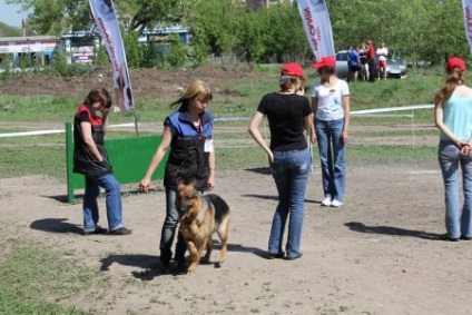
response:
[[(178, 213), (175, 206), (178, 183), (195, 184), (200, 194), (215, 187), (214, 117), (206, 110), (212, 99), (213, 93), (209, 87), (201, 80), (195, 80), (185, 93), (170, 105), (170, 107), (179, 105), (179, 108), (165, 119), (163, 140), (139, 184), (142, 193), (149, 191), (153, 174), (170, 147), (164, 175), (166, 218), (159, 246), (160, 263), (164, 268), (170, 264), (171, 246), (178, 225)], [(179, 269), (186, 267), (186, 250), (187, 244), (178, 233), (174, 259)]]

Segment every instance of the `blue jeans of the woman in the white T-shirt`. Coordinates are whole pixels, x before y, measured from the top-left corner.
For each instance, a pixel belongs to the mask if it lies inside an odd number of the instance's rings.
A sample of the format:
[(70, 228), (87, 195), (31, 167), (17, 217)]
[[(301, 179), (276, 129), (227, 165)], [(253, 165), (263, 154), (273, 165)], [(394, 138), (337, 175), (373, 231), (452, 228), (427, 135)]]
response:
[(315, 119), (323, 193), (325, 197), (341, 203), (344, 200), (344, 186), (346, 184), (346, 147), (341, 140), (343, 130), (344, 119)]

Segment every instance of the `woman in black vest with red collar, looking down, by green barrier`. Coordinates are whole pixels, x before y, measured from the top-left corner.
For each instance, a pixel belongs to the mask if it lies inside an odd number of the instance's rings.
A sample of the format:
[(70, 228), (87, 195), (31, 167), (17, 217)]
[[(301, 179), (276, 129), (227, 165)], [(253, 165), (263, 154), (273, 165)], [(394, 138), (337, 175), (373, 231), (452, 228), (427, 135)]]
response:
[[(120, 185), (112, 175), (104, 137), (108, 126), (111, 98), (104, 88), (91, 90), (73, 118), (73, 171), (83, 174), (83, 235), (129, 235), (122, 224)], [(100, 112), (100, 115), (97, 115)], [(100, 187), (105, 189), (108, 230), (98, 225), (97, 198)]]

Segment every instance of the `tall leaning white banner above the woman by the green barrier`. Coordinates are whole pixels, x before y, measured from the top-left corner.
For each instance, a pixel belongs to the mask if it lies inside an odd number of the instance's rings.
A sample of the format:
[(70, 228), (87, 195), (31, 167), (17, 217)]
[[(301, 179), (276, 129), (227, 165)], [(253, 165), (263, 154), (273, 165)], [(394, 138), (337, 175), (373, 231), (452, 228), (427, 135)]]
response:
[(131, 81), (114, 1), (89, 0), (89, 4), (114, 67), (115, 109), (130, 110), (134, 108)]

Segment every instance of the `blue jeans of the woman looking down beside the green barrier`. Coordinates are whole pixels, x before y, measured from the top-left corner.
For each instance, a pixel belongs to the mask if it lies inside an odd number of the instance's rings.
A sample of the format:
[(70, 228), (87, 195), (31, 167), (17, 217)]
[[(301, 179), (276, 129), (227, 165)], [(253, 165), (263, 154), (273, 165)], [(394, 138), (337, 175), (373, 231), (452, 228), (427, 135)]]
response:
[(107, 206), (108, 229), (115, 230), (122, 227), (121, 189), (112, 174), (104, 175), (97, 179), (86, 176), (86, 190), (83, 196), (83, 232), (94, 232), (98, 227), (100, 215), (97, 198), (100, 187), (105, 189)]

